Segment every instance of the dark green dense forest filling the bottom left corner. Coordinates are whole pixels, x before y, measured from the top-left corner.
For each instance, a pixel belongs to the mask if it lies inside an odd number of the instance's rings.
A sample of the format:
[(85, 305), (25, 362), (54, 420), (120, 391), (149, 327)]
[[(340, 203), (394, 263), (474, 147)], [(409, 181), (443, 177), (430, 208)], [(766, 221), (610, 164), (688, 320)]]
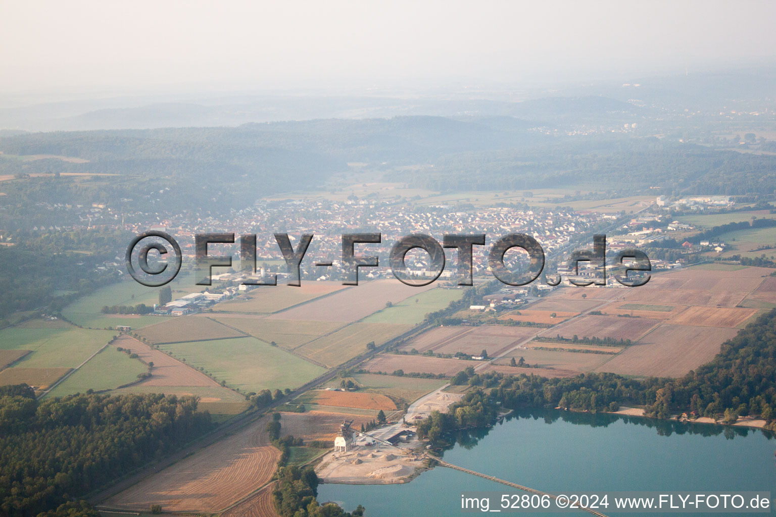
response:
[(26, 385), (0, 388), (0, 512), (96, 515), (72, 500), (211, 429), (196, 407), (196, 398), (165, 395), (40, 402)]

